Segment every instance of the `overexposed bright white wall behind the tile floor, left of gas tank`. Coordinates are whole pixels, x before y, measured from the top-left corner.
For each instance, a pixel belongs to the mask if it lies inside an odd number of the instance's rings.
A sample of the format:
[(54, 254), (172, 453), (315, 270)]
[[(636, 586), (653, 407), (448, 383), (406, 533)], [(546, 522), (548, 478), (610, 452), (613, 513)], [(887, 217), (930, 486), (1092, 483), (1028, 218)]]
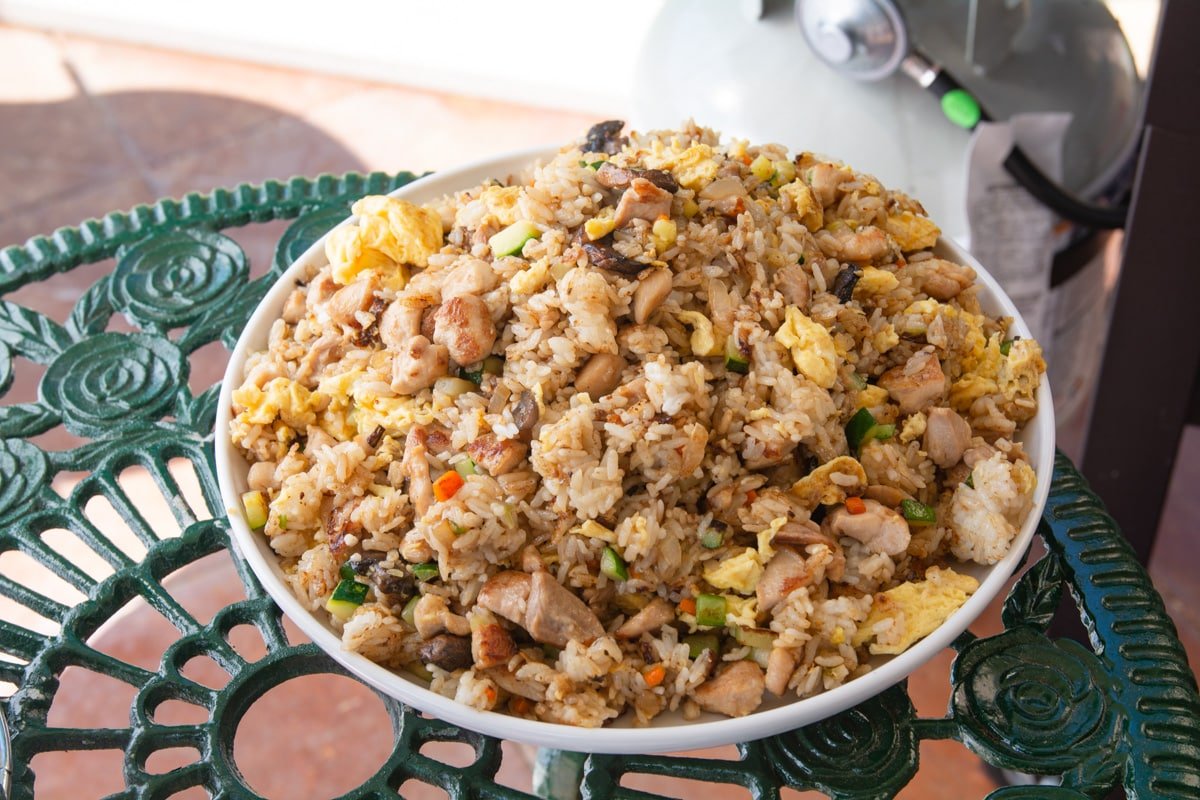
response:
[(0, 20), (592, 113), (662, 0), (0, 0)]

